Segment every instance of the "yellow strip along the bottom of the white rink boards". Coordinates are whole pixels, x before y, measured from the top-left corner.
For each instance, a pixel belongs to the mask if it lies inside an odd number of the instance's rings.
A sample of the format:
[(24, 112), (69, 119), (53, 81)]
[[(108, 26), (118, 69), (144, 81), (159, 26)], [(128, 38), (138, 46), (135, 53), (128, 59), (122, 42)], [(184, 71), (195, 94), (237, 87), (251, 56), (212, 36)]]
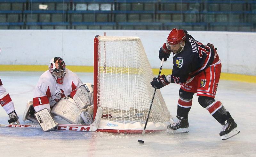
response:
[[(93, 73), (93, 66), (67, 66), (73, 72)], [(48, 65), (0, 65), (0, 71), (46, 71)], [(159, 69), (153, 68), (153, 74), (158, 75)], [(162, 69), (161, 75), (172, 74), (172, 69)], [(256, 83), (256, 76), (221, 73), (221, 80)]]

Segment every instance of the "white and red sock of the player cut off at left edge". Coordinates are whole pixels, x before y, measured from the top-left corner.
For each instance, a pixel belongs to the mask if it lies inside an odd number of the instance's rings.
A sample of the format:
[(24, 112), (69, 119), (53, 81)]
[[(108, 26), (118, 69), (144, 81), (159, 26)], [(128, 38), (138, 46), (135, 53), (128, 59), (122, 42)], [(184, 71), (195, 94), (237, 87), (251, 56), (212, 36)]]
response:
[(7, 114), (15, 110), (12, 99), (10, 95), (6, 92), (6, 89), (4, 88), (1, 79), (0, 79), (0, 104), (4, 108)]

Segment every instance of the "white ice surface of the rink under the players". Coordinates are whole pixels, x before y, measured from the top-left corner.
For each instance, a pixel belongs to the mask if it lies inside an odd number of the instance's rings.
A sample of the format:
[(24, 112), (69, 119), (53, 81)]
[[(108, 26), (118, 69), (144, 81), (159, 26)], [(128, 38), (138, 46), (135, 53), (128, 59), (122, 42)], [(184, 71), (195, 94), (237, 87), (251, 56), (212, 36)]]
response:
[[(43, 72), (0, 72), (21, 124), (26, 103)], [(92, 73), (77, 73), (83, 82), (93, 83)], [(161, 89), (174, 117), (180, 86)], [(113, 134), (103, 132), (42, 132), (38, 128), (0, 128), (0, 156), (256, 156), (256, 84), (220, 80), (216, 100), (221, 101), (235, 119), (240, 133), (222, 141), (222, 126), (201, 107), (194, 95), (189, 112), (189, 132), (168, 134)], [(0, 107), (0, 124), (8, 115)], [(144, 140), (144, 144), (138, 143)]]

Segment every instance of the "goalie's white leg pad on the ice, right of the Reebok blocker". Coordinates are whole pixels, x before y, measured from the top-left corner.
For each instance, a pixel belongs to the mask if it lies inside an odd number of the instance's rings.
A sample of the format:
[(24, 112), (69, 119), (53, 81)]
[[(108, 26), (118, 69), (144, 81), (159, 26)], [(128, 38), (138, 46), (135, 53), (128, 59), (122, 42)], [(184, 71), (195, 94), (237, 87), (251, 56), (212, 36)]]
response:
[(61, 98), (51, 111), (53, 114), (60, 116), (71, 124), (78, 124), (80, 120), (80, 109), (72, 98)]

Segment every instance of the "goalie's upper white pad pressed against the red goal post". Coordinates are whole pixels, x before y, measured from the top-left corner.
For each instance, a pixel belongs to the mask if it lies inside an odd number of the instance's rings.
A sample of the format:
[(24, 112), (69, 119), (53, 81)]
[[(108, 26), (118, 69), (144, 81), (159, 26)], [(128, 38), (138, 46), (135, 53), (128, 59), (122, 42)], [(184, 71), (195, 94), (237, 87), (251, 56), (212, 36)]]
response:
[(73, 96), (79, 109), (84, 109), (93, 104), (93, 85), (91, 83), (81, 84)]

